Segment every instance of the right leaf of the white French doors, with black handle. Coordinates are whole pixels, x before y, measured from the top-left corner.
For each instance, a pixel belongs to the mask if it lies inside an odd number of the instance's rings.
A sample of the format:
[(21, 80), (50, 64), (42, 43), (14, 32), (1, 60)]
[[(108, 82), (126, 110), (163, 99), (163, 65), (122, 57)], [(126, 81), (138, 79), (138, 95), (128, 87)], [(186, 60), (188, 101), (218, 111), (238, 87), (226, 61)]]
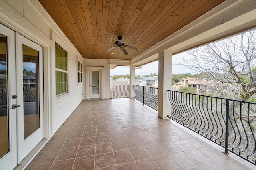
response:
[(43, 48), (16, 33), (18, 163), (44, 138)]

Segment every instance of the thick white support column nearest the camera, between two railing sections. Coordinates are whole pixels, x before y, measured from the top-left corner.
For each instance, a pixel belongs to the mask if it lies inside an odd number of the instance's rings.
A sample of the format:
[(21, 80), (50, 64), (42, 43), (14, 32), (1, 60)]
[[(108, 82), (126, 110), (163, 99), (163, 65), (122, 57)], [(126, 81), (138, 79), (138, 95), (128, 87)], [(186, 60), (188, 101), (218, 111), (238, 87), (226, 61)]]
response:
[(158, 53), (158, 116), (166, 118), (170, 114), (168, 91), (172, 87), (172, 52)]

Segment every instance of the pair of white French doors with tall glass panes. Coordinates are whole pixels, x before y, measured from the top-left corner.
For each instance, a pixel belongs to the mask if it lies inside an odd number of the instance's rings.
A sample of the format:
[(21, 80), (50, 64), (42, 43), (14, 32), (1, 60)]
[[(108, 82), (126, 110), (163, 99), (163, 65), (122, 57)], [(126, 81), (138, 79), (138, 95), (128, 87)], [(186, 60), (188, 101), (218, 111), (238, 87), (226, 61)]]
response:
[(8, 170), (44, 138), (43, 48), (2, 24), (0, 33), (0, 169)]

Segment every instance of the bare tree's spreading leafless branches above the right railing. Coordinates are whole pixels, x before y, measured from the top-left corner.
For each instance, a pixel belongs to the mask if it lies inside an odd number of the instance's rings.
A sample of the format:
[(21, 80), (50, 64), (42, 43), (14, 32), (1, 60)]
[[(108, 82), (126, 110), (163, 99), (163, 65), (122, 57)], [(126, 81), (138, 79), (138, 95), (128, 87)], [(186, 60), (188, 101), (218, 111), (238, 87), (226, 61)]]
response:
[(255, 30), (193, 49), (188, 54), (190, 59), (183, 58), (184, 63), (178, 65), (230, 84), (236, 97), (243, 101), (256, 93)]

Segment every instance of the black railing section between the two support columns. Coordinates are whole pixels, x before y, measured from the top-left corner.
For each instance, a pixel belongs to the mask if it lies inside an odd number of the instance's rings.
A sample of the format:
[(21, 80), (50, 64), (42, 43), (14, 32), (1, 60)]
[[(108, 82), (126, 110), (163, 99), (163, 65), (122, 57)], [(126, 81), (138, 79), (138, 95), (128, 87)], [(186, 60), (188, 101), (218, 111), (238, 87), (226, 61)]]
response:
[(158, 110), (158, 88), (133, 85), (135, 92), (134, 99), (141, 103)]

